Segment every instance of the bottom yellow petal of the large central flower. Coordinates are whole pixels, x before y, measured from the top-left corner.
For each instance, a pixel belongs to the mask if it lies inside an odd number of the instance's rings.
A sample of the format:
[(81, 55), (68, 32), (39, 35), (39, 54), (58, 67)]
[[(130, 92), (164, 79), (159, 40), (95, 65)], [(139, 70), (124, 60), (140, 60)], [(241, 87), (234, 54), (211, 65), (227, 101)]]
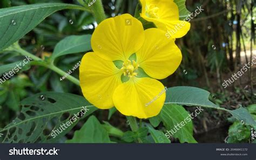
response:
[(124, 115), (150, 118), (161, 111), (165, 97), (164, 85), (156, 79), (133, 77), (117, 87), (113, 101)]

